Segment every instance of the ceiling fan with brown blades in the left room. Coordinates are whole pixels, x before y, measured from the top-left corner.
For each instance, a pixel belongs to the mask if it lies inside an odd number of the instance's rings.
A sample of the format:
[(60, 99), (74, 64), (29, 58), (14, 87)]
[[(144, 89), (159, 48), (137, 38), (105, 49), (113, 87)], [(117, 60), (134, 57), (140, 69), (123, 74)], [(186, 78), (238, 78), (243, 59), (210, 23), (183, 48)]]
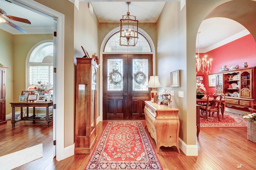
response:
[(10, 22), (9, 20), (14, 20), (14, 21), (18, 21), (18, 22), (24, 22), (26, 24), (31, 24), (31, 22), (27, 19), (19, 18), (19, 17), (16, 17), (16, 16), (6, 15), (6, 12), (0, 8), (0, 22), (1, 21), (6, 22), (6, 24), (9, 24), (10, 26), (12, 26), (13, 28), (16, 28), (20, 32), (27, 33), (25, 30), (23, 30), (19, 26), (16, 26), (15, 24)]

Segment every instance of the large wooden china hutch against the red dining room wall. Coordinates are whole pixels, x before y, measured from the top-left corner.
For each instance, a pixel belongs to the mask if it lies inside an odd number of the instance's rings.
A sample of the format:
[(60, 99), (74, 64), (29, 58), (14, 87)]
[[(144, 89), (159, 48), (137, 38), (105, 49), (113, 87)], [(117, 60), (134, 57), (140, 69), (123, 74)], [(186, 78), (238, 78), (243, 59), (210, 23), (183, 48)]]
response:
[(256, 67), (216, 73), (216, 93), (225, 93), (229, 107), (253, 108), (256, 98), (254, 87)]

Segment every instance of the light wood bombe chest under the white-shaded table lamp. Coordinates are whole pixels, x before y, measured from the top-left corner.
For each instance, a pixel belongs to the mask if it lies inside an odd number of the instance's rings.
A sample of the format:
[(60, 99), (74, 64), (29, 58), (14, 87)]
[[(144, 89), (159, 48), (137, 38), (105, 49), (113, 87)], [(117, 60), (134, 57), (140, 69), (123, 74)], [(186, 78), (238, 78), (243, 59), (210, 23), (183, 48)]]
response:
[(159, 153), (160, 146), (176, 146), (180, 153), (178, 112), (178, 109), (145, 101), (146, 127), (156, 142), (156, 153)]

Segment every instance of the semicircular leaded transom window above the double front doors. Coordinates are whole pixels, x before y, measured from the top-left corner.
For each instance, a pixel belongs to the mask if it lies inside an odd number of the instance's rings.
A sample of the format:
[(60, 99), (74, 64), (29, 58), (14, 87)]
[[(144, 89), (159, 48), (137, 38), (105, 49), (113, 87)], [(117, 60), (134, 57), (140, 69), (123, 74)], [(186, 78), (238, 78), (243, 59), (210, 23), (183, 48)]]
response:
[(105, 46), (104, 46), (104, 52), (152, 52), (151, 45), (141, 32), (138, 32), (138, 42), (136, 43), (136, 46), (121, 46), (119, 45), (120, 42), (120, 31), (114, 32), (112, 34)]

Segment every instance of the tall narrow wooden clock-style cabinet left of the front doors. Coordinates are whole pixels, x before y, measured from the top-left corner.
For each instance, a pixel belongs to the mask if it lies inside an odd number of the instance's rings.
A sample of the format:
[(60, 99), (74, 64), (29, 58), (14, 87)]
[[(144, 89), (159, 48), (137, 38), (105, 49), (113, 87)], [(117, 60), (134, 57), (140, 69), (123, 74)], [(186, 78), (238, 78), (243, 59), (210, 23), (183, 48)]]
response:
[(75, 154), (90, 154), (96, 143), (98, 57), (76, 58)]

